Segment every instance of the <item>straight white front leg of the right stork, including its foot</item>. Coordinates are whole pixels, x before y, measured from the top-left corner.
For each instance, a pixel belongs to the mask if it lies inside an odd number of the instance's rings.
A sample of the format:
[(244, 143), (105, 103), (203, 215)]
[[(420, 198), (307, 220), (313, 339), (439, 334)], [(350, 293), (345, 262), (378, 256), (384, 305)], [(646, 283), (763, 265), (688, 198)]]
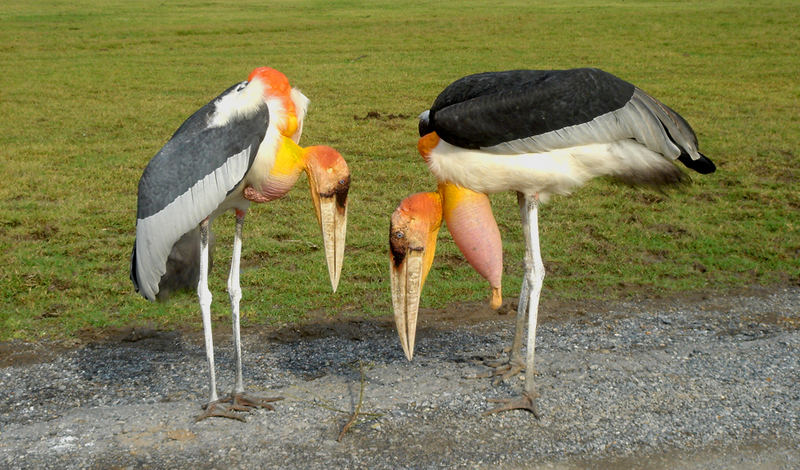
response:
[[(539, 312), (539, 295), (542, 292), (542, 282), (544, 281), (544, 263), (539, 247), (539, 198), (537, 196), (519, 196), (520, 214), (522, 216), (522, 227), (525, 235), (525, 242), (528, 250), (525, 254), (525, 280), (529, 286), (527, 292), (528, 310), (528, 347), (525, 358), (525, 391), (521, 397), (490, 400), (503, 405), (493, 408), (484, 414), (498, 413), (501, 411), (524, 409), (530, 411), (538, 418), (539, 412), (536, 409), (535, 399), (538, 396), (536, 387), (533, 383), (535, 375), (534, 352), (536, 349), (536, 321)], [(520, 298), (522, 303), (522, 296)], [(518, 312), (519, 325), (519, 312)]]

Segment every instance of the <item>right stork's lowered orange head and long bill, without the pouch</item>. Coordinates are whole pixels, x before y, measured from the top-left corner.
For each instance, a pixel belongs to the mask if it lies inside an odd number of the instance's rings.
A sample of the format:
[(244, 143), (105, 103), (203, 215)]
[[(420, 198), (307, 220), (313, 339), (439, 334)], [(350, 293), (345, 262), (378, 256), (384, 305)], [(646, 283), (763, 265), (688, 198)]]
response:
[(439, 193), (418, 193), (404, 199), (392, 214), (389, 228), (390, 277), (394, 321), (400, 345), (414, 357), (422, 286), (436, 252), (442, 224)]

